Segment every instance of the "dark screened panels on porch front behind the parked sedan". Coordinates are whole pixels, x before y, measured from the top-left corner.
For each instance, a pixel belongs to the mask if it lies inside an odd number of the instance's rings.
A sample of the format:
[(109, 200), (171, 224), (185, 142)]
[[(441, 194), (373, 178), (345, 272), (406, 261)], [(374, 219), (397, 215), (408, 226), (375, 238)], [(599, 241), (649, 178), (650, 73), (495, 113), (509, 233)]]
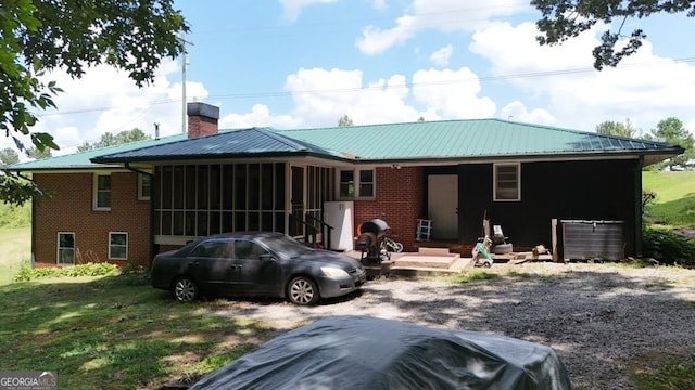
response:
[(233, 231), (285, 232), (286, 169), (285, 162), (155, 167), (154, 231), (186, 240)]

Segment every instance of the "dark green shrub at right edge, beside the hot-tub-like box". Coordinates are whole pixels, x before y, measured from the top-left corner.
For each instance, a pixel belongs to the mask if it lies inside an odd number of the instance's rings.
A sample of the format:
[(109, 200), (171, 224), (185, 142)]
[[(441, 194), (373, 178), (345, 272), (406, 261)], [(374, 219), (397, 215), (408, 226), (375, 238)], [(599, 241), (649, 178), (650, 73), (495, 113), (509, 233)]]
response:
[(645, 229), (642, 251), (662, 264), (695, 268), (695, 240), (673, 232)]

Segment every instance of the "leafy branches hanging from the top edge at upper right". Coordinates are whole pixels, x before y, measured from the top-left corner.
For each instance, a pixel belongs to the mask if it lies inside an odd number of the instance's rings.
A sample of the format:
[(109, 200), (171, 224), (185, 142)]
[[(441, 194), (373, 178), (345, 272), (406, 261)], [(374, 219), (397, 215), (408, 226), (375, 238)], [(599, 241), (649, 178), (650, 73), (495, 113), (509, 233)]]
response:
[[(541, 44), (558, 44), (577, 37), (597, 23), (615, 26), (606, 29), (602, 43), (594, 48), (594, 67), (616, 66), (620, 61), (637, 51), (647, 37), (640, 28), (627, 35), (622, 28), (629, 18), (642, 18), (659, 13), (682, 13), (695, 16), (695, 0), (531, 0), (531, 5), (541, 11), (543, 18), (535, 24), (541, 31), (536, 37)], [(616, 48), (619, 39), (627, 43)]]

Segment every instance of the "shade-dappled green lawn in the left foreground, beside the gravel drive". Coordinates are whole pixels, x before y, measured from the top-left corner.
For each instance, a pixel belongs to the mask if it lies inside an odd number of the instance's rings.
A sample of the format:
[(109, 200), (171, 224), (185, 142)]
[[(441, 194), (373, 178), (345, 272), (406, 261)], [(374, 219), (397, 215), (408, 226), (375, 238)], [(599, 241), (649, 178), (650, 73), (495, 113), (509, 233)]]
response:
[(160, 388), (200, 376), (277, 336), (271, 324), (181, 304), (142, 275), (0, 286), (0, 367), (51, 370), (59, 389)]

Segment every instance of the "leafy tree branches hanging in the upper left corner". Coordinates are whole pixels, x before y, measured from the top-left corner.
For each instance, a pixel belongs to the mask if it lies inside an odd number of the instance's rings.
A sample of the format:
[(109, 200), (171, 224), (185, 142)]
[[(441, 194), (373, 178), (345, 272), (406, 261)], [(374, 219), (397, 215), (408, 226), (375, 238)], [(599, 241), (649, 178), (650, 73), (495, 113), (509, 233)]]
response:
[[(128, 72), (137, 86), (153, 80), (164, 57), (184, 51), (178, 32), (188, 31), (174, 0), (4, 0), (0, 9), (0, 131), (30, 135), (39, 152), (58, 150), (53, 136), (31, 132), (35, 110), (55, 107), (61, 92), (46, 72), (60, 68), (79, 78), (86, 68), (108, 64)], [(13, 176), (0, 178), (0, 199), (26, 202)], [(38, 193), (37, 193), (38, 195)]]

